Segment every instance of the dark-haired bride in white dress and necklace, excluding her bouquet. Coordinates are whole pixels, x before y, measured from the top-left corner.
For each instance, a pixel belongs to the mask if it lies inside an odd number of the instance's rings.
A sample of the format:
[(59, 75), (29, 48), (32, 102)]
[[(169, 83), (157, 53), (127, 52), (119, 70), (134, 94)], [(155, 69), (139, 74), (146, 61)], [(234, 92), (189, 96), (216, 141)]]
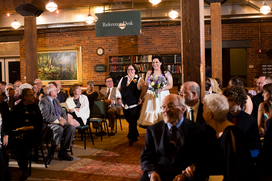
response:
[(137, 123), (137, 125), (141, 128), (147, 128), (148, 126), (151, 126), (156, 122), (163, 120), (160, 106), (164, 97), (170, 94), (169, 89), (173, 87), (172, 75), (168, 70), (164, 68), (164, 63), (161, 57), (157, 55), (152, 56), (152, 70), (148, 71), (148, 73), (146, 74), (145, 81), (147, 81), (149, 75), (152, 77), (156, 75), (160, 76), (162, 74), (164, 75), (164, 77), (166, 77), (166, 80), (168, 80), (168, 84), (164, 85), (163, 88), (160, 88), (159, 91), (157, 91), (157, 93), (160, 93), (158, 94), (158, 98), (154, 98), (155, 91), (151, 90), (151, 85), (149, 85), (147, 82), (144, 83), (144, 89), (148, 90), (145, 96), (144, 93), (146, 91), (142, 91), (139, 100), (139, 103), (144, 102), (141, 115)]

